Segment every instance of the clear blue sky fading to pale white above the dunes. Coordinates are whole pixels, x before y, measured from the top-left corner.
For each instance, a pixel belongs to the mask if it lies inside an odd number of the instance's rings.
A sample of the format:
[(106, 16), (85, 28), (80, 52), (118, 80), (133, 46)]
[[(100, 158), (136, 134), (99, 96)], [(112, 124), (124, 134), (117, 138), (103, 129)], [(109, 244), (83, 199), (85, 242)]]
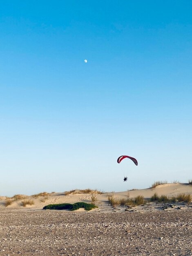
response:
[(1, 1), (0, 195), (188, 182), (191, 12), (190, 0)]

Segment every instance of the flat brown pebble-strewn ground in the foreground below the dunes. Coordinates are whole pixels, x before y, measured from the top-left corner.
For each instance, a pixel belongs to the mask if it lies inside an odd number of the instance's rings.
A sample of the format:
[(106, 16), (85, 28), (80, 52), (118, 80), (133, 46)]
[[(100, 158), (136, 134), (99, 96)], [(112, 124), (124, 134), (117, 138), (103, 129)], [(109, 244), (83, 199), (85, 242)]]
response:
[(0, 212), (0, 256), (192, 255), (192, 210)]

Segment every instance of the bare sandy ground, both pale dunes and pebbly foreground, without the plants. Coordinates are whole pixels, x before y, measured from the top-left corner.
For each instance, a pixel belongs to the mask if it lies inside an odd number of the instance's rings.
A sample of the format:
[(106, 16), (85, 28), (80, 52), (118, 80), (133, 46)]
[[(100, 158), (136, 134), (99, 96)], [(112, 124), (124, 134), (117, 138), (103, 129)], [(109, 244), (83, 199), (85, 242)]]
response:
[(92, 194), (51, 193), (23, 207), (21, 200), (5, 207), (0, 198), (0, 256), (32, 255), (192, 255), (192, 203), (112, 207), (117, 198), (192, 194), (189, 184), (164, 184), (155, 189), (95, 194), (98, 209), (86, 212), (42, 210), (51, 203), (91, 202)]

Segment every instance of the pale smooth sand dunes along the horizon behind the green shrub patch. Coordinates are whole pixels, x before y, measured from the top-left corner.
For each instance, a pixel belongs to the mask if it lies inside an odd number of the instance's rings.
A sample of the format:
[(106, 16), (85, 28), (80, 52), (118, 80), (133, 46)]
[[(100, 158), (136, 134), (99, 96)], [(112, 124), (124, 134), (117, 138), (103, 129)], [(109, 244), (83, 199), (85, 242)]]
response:
[[(85, 191), (84, 191), (85, 192)], [(152, 197), (154, 193), (157, 193), (159, 196), (167, 195), (167, 196), (176, 196), (179, 193), (190, 193), (192, 195), (192, 185), (186, 183), (170, 183), (170, 184), (162, 184), (156, 186), (154, 189), (135, 189), (131, 191), (123, 191), (123, 192), (112, 192), (112, 193), (98, 193), (99, 191), (90, 191), (89, 193), (82, 193), (80, 190), (75, 190), (72, 193), (49, 193), (45, 196), (39, 196), (34, 198), (33, 196), (25, 196), (23, 195), (23, 199), (21, 200), (13, 200), (13, 202), (9, 206), (5, 206), (6, 198), (0, 197), (0, 209), (1, 210), (40, 210), (47, 204), (59, 204), (59, 203), (75, 203), (75, 202), (92, 202), (92, 196), (95, 195), (97, 198), (98, 209), (94, 211), (98, 211), (103, 209), (103, 206), (109, 206), (108, 196), (114, 195), (114, 197), (134, 198), (138, 195), (143, 195), (145, 199), (149, 199)], [(27, 205), (26, 207), (22, 206), (22, 200), (33, 200), (33, 205)]]

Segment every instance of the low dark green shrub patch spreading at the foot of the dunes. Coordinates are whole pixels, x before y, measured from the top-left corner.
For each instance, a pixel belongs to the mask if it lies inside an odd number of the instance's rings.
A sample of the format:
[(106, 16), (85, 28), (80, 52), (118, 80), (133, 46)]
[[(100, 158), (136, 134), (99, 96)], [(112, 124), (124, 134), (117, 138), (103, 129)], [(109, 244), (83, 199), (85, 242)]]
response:
[(77, 202), (74, 204), (48, 204), (43, 207), (43, 209), (51, 209), (51, 210), (69, 210), (69, 211), (75, 211), (79, 208), (84, 208), (85, 211), (90, 211), (94, 208), (98, 208), (95, 204), (87, 204), (84, 202)]

